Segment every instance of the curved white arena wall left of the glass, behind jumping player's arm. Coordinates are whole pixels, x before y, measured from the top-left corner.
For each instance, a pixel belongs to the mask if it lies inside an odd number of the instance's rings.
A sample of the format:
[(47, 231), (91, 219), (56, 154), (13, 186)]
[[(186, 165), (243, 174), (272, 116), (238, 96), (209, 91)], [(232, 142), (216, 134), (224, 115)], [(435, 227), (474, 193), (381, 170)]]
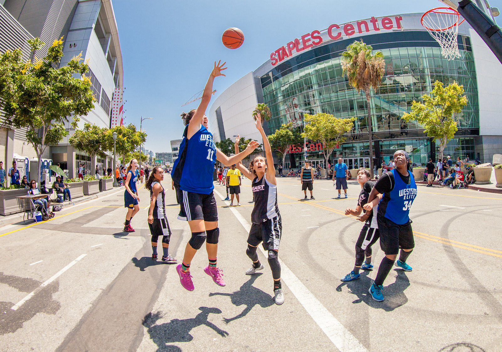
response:
[(249, 72), (231, 86), (226, 88), (213, 102), (209, 109), (209, 129), (215, 142), (222, 136), (219, 134), (216, 110), (221, 109), (225, 137), (235, 141), (236, 135), (250, 138), (262, 143), (262, 136), (255, 127), (253, 110), (256, 108), (257, 97), (253, 72)]

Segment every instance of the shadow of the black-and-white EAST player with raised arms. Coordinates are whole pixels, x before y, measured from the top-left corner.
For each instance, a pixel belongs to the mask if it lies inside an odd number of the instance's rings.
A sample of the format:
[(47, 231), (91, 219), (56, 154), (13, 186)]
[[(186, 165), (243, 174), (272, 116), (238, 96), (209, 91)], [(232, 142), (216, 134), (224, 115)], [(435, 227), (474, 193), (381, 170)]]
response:
[(249, 313), (251, 309), (253, 309), (253, 307), (257, 304), (262, 308), (267, 308), (274, 304), (274, 300), (272, 299), (271, 295), (253, 286), (253, 283), (260, 275), (263, 275), (263, 273), (251, 275), (249, 280), (247, 280), (242, 286), (240, 286), (240, 290), (234, 291), (233, 293), (216, 292), (209, 294), (209, 297), (215, 295), (228, 296), (230, 297), (233, 305), (237, 307), (240, 305), (246, 306), (240, 314), (234, 316), (233, 318), (223, 318), (223, 321), (225, 323), (228, 324), (232, 320), (242, 318), (244, 315)]

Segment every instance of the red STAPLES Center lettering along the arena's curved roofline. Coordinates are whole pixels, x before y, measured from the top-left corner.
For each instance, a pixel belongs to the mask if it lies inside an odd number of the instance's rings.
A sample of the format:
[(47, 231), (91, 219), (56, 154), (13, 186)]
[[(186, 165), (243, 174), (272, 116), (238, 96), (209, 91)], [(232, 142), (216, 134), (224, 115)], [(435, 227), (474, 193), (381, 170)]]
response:
[[(354, 21), (346, 23), (342, 26), (337, 24), (332, 24), (327, 29), (327, 34), (329, 38), (337, 40), (345, 34), (347, 37), (353, 36), (354, 34), (361, 34), (362, 32), (370, 31), (380, 31), (380, 29), (391, 30), (394, 27), (401, 29), (401, 21), (403, 18), (401, 16), (395, 16), (394, 19), (390, 17), (375, 18), (371, 16), (369, 21)], [(369, 23), (368, 23), (369, 22)], [(380, 27), (381, 26), (381, 27)], [(285, 46), (280, 47), (276, 51), (270, 54), (270, 59), (272, 60), (272, 66), (277, 65), (284, 59), (292, 56), (295, 52), (299, 53), (305, 49), (312, 48), (313, 46), (320, 45), (322, 43), (321, 32), (314, 30), (311, 33), (304, 34), (300, 39), (295, 38), (295, 40), (289, 42)]]

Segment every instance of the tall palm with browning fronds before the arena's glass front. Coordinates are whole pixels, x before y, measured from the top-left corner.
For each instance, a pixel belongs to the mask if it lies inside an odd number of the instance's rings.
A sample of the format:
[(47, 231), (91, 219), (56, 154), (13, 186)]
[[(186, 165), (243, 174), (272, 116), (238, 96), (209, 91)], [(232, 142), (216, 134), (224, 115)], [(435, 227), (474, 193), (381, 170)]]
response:
[(370, 89), (376, 89), (380, 86), (382, 76), (384, 75), (384, 54), (377, 51), (372, 54), (373, 48), (364, 42), (353, 42), (347, 46), (343, 52), (343, 71), (347, 73), (348, 82), (359, 92), (364, 90), (368, 109), (368, 140), (369, 140), (369, 172), (373, 177), (373, 144), (371, 141), (371, 110), (369, 101), (371, 100)]

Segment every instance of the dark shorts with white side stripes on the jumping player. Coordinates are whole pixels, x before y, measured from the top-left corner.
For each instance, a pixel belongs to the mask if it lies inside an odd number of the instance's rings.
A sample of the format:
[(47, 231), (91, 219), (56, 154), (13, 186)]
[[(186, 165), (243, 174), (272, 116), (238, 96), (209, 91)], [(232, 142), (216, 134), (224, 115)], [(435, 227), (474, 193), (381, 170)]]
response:
[(218, 221), (218, 207), (213, 192), (201, 194), (176, 189), (180, 201), (179, 220), (191, 221), (204, 219), (204, 221)]

